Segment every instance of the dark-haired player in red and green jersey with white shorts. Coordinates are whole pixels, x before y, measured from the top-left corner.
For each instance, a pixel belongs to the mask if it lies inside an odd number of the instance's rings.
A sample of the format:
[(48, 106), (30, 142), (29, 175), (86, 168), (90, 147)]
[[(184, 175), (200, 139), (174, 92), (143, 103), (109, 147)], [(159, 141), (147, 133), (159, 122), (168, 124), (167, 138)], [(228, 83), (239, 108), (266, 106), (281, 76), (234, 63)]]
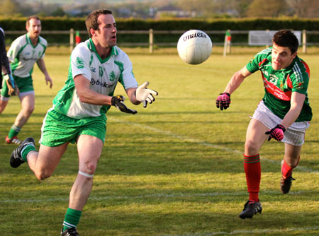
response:
[(310, 71), (305, 61), (297, 56), (298, 39), (290, 30), (274, 34), (273, 46), (257, 53), (250, 62), (230, 79), (216, 106), (225, 110), (230, 105), (230, 95), (247, 76), (261, 71), (264, 98), (247, 128), (244, 169), (250, 199), (245, 203), (240, 218), (252, 218), (262, 213), (259, 202), (261, 167), (259, 149), (271, 138), (285, 143), (284, 160), (281, 162), (281, 192), (286, 194), (294, 180), (291, 172), (298, 165), (306, 129), (312, 118), (308, 102)]

